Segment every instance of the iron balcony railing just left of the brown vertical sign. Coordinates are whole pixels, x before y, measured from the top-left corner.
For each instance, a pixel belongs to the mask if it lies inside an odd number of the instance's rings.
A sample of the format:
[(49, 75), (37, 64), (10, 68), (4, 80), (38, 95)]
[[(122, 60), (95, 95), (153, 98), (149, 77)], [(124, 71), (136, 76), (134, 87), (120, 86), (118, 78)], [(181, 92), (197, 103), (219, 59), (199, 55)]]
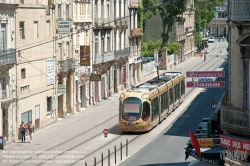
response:
[(68, 71), (75, 71), (76, 63), (74, 59), (66, 59), (64, 61), (58, 61), (58, 72), (66, 73)]

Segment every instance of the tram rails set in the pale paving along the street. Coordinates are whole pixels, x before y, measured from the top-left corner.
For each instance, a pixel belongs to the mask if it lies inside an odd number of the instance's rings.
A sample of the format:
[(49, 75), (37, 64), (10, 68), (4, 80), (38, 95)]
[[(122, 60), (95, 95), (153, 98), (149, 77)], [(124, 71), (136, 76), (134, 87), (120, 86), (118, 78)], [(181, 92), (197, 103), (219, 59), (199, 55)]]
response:
[[(210, 57), (209, 57), (209, 58), (210, 58)], [(208, 58), (207, 58), (207, 60), (208, 60)], [(213, 62), (213, 58), (211, 58), (209, 61), (206, 61), (206, 62), (203, 62), (203, 61), (202, 61), (202, 62), (199, 64), (198, 68), (197, 68), (197, 66), (195, 66), (195, 67), (193, 67), (193, 68), (191, 68), (191, 69), (189, 69), (189, 70), (195, 70), (195, 71), (197, 71), (197, 70), (201, 69), (202, 67), (204, 67), (204, 65), (207, 65), (208, 63), (210, 64), (211, 62)], [(204, 63), (206, 63), (206, 64), (204, 64)], [(211, 68), (212, 66), (214, 66), (214, 65), (217, 64), (217, 63), (219, 63), (219, 61), (217, 61), (216, 63), (212, 63), (211, 65), (209, 65), (209, 67), (206, 67), (206, 68), (209, 69), (209, 68)], [(217, 67), (219, 67), (219, 66), (220, 66), (220, 65), (217, 65)], [(216, 67), (216, 68), (217, 68), (217, 67)], [(197, 68), (197, 69), (195, 69), (195, 68)], [(215, 69), (216, 69), (216, 68), (215, 68)], [(204, 70), (207, 70), (207, 69), (204, 69)], [(185, 72), (185, 73), (186, 73), (186, 72)], [(185, 94), (185, 96), (187, 96), (187, 95), (188, 95), (189, 93), (191, 93), (193, 90), (194, 90), (194, 88), (192, 88), (187, 94)], [(68, 139), (68, 140), (66, 140), (66, 141), (64, 141), (64, 142), (61, 142), (61, 143), (59, 143), (59, 144), (57, 144), (57, 145), (55, 145), (55, 146), (53, 146), (53, 147), (51, 147), (51, 148), (45, 150), (44, 152), (38, 153), (38, 154), (36, 154), (36, 155), (34, 155), (34, 156), (39, 156), (39, 155), (41, 155), (41, 154), (44, 154), (44, 153), (47, 152), (47, 151), (50, 151), (50, 150), (53, 150), (53, 149), (58, 148), (58, 147), (60, 147), (60, 146), (63, 146), (65, 143), (71, 142), (72, 140), (74, 140), (74, 139), (76, 139), (76, 138), (78, 138), (78, 137), (84, 136), (85, 134), (87, 134), (87, 133), (91, 132), (92, 130), (96, 129), (97, 127), (102, 126), (104, 123), (106, 123), (106, 122), (108, 122), (108, 121), (111, 121), (111, 120), (114, 119), (114, 118), (117, 118), (117, 116), (118, 116), (118, 114), (112, 116), (111, 118), (108, 118), (106, 121), (104, 121), (104, 122), (102, 122), (102, 123), (99, 123), (99, 124), (95, 125), (94, 127), (90, 128), (90, 129), (88, 129), (88, 130), (86, 130), (86, 131), (84, 131), (84, 132), (82, 132), (82, 133), (80, 133), (80, 134), (78, 134), (78, 135), (76, 135), (76, 136), (73, 136), (71, 139)], [(117, 126), (117, 124), (113, 125), (111, 128), (114, 128), (114, 127), (116, 127), (116, 126)], [(139, 137), (142, 136), (142, 135), (143, 135), (143, 134), (135, 135), (134, 137), (132, 137), (132, 139), (130, 139), (130, 140), (128, 141), (128, 143), (131, 143), (131, 142), (135, 141), (137, 138), (139, 138)], [(95, 139), (95, 138), (97, 138), (98, 136), (100, 136), (100, 133), (99, 133), (99, 132), (98, 132), (98, 134), (95, 134), (94, 136), (91, 136), (91, 137), (88, 138), (87, 140), (85, 140), (85, 141), (83, 141), (83, 142), (81, 142), (81, 143), (79, 143), (79, 144), (76, 144), (75, 146), (73, 146), (73, 147), (71, 147), (71, 148), (65, 150), (65, 152), (66, 152), (66, 151), (74, 150), (74, 149), (78, 148), (78, 147), (81, 146), (81, 145), (87, 144), (90, 140)], [(88, 153), (88, 154), (85, 155), (84, 157), (79, 158), (78, 160), (75, 161), (75, 163), (72, 163), (71, 165), (75, 165), (75, 164), (79, 163), (79, 162), (82, 161), (83, 159), (86, 159), (86, 158), (90, 157), (90, 156), (93, 155), (94, 153), (100, 151), (101, 149), (107, 147), (107, 146), (110, 145), (111, 143), (114, 143), (115, 141), (117, 141), (117, 140), (119, 140), (119, 139), (121, 139), (121, 138), (123, 138), (123, 137), (125, 137), (125, 136), (124, 136), (124, 135), (119, 135), (119, 136), (115, 137), (114, 139), (108, 141), (107, 143), (103, 144), (103, 145), (100, 146), (99, 148), (97, 148), (97, 149), (91, 151), (90, 153)], [(117, 150), (119, 150), (119, 148), (118, 148)], [(57, 156), (60, 156), (60, 155), (63, 155), (63, 154), (64, 154), (64, 152), (63, 152), (63, 153), (58, 153), (56, 156), (54, 156), (54, 158), (50, 158), (50, 159), (44, 160), (43, 162), (39, 163), (38, 165), (42, 165), (42, 164), (44, 164), (44, 162), (46, 162), (46, 161), (49, 161), (49, 160), (52, 160), (52, 159), (56, 159)], [(112, 155), (112, 154), (114, 154), (114, 152), (112, 152), (110, 155)], [(19, 165), (19, 164), (21, 164), (21, 163), (23, 163), (23, 162), (25, 162), (25, 161), (27, 161), (27, 160), (30, 160), (30, 159), (32, 159), (34, 156), (32, 156), (32, 157), (30, 157), (30, 158), (27, 158), (27, 159), (23, 160), (22, 162), (17, 163), (17, 164), (15, 164), (15, 165)], [(107, 157), (108, 157), (108, 156), (106, 155), (103, 159), (106, 159)], [(101, 162), (101, 160), (97, 161), (97, 163), (100, 163), (100, 162)]]

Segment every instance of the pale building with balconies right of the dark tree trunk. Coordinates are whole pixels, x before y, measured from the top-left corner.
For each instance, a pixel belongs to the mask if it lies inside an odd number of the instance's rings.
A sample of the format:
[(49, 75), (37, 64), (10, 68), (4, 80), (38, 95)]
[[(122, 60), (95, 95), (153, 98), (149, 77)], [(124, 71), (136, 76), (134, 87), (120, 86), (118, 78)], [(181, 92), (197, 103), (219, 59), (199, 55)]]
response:
[(184, 62), (194, 56), (194, 1), (187, 3), (187, 10), (183, 13), (185, 21), (175, 22), (173, 29), (173, 40), (182, 44), (182, 50), (176, 55), (175, 61)]

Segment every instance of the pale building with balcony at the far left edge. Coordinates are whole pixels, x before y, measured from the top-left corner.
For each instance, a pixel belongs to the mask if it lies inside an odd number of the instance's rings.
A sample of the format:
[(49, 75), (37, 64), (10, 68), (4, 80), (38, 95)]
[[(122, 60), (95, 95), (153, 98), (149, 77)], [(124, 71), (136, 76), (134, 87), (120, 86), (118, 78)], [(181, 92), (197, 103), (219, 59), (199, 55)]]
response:
[(16, 136), (16, 45), (15, 11), (18, 2), (0, 1), (0, 136)]

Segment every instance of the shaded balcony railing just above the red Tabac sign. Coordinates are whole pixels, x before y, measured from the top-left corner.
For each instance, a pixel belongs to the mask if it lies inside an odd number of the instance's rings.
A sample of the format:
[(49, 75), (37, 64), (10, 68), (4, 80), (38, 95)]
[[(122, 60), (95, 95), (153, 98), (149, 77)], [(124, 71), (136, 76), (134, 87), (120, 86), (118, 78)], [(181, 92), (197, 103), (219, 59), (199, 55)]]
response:
[(220, 115), (222, 130), (250, 137), (249, 110), (221, 105)]

